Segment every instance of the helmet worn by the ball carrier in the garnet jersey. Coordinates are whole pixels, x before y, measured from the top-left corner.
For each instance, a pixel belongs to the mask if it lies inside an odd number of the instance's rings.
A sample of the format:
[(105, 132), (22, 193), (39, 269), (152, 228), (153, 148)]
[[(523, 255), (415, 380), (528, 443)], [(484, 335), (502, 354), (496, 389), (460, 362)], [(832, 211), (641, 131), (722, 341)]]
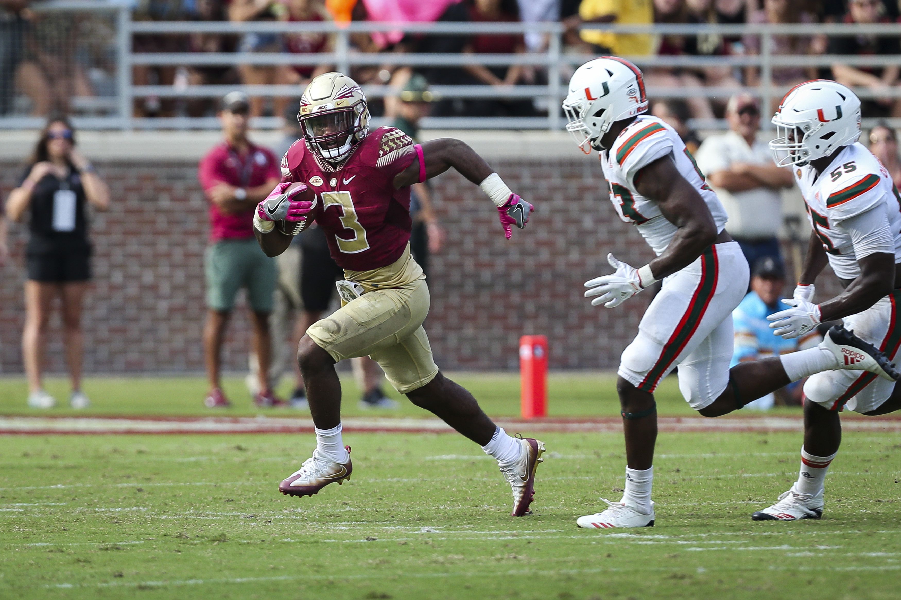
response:
[(343, 73), (323, 73), (300, 97), (297, 122), (311, 152), (326, 160), (341, 160), (369, 133), (366, 94)]

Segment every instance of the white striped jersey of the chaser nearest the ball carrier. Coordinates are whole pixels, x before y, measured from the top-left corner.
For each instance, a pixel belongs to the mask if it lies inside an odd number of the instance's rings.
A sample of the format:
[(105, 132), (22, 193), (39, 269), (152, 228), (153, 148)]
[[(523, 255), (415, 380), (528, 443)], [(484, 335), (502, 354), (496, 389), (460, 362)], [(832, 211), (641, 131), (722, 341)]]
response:
[(669, 241), (676, 235), (676, 226), (663, 216), (657, 201), (638, 193), (634, 178), (643, 167), (667, 155), (673, 157), (679, 173), (701, 194), (714, 218), (717, 232), (723, 230), (727, 219), (723, 204), (705, 184), (695, 158), (676, 130), (657, 117), (638, 117), (616, 137), (610, 149), (601, 153), (601, 166), (616, 213), (620, 219), (638, 228), (657, 255), (663, 254), (669, 246)]

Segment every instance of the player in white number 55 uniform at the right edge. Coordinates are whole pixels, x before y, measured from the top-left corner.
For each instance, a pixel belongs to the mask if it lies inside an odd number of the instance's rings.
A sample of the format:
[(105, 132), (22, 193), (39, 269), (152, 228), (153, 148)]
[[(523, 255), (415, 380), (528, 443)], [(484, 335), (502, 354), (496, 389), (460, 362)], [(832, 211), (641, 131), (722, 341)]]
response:
[[(796, 307), (773, 315), (770, 327), (794, 337), (821, 320), (843, 318), (844, 327), (894, 360), (901, 345), (901, 196), (886, 167), (857, 142), (860, 100), (844, 85), (809, 81), (786, 94), (772, 122), (778, 137), (770, 148), (779, 166), (792, 168), (813, 232)], [(845, 291), (816, 305), (814, 281), (827, 262)], [(820, 518), (826, 470), (842, 442), (839, 412), (901, 408), (894, 382), (864, 371), (815, 374), (804, 393), (798, 479), (776, 504), (754, 513), (755, 521)]]

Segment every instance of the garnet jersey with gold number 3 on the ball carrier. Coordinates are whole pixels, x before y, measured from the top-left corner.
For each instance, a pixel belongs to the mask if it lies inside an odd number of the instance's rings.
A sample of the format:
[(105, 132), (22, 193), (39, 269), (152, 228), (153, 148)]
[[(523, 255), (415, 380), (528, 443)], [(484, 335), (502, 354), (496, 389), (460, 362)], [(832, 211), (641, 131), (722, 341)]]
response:
[(282, 159), (282, 181), (316, 193), (312, 216), (335, 262), (370, 271), (395, 263), (410, 240), (410, 188), (396, 190), (394, 178), (415, 158), (413, 139), (394, 127), (379, 127), (334, 164), (298, 139)]

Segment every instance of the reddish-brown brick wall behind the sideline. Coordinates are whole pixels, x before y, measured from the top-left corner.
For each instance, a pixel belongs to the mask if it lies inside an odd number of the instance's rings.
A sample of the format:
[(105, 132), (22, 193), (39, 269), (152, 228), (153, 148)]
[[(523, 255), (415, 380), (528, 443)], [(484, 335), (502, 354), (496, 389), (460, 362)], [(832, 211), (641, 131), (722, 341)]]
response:
[[(206, 202), (189, 163), (98, 164), (112, 208), (94, 215), (94, 286), (86, 302), (86, 372), (183, 372), (203, 368), (203, 253)], [(613, 368), (648, 299), (618, 309), (591, 307), (582, 283), (608, 273), (607, 252), (631, 264), (651, 257), (616, 218), (596, 160), (495, 161), (510, 186), (538, 209), (529, 228), (506, 241), (496, 211), (456, 173), (434, 180), (447, 231), (432, 257), (432, 311), (426, 330), (446, 369), (512, 369), (518, 339), (544, 334), (551, 368)], [(0, 190), (21, 166), (0, 163)], [(12, 259), (2, 267), (0, 369), (21, 372), (23, 225), (11, 226)], [(790, 291), (789, 291), (790, 293)], [(229, 368), (246, 366), (248, 327), (241, 300), (225, 350)], [(50, 369), (62, 369), (59, 318), (50, 334)]]

